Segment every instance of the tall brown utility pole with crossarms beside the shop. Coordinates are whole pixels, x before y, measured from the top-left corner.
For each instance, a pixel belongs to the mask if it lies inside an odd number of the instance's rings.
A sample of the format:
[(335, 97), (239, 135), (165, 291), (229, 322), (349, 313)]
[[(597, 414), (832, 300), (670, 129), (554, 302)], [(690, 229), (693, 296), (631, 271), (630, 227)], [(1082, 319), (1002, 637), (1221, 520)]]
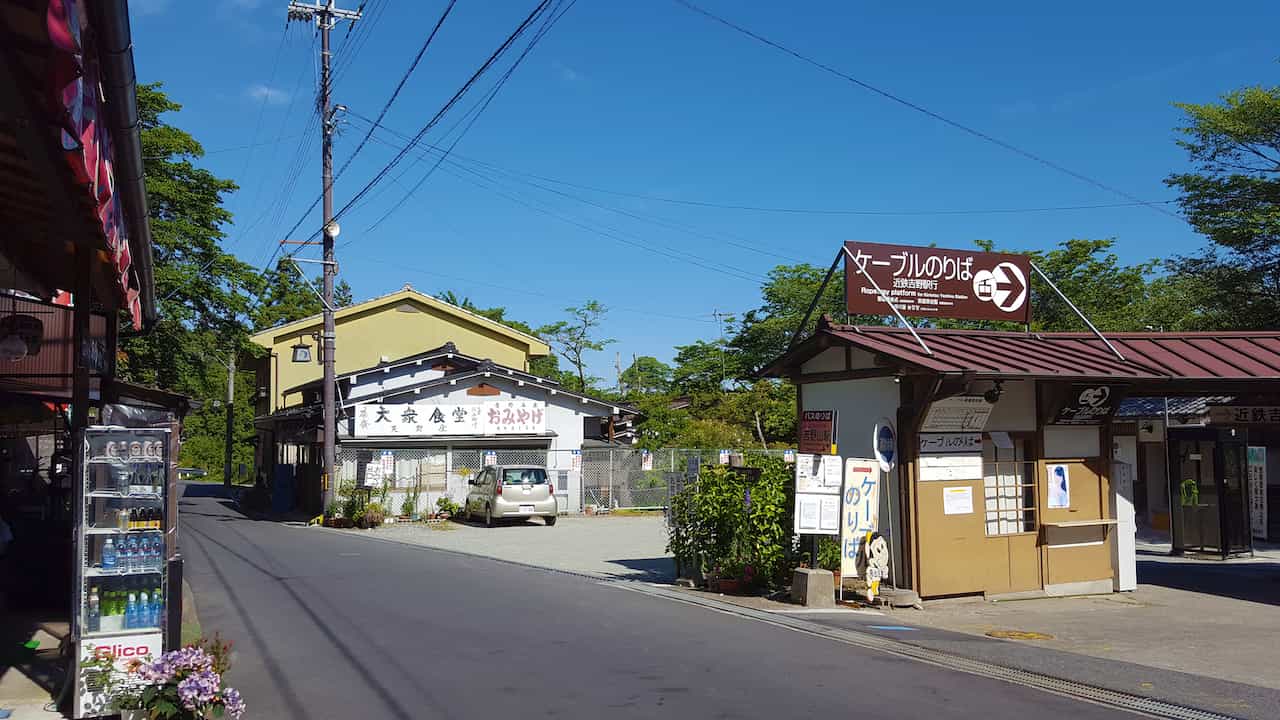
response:
[[(360, 19), (360, 10), (343, 10), (334, 5), (334, 0), (316, 0), (315, 4), (289, 3), (291, 20), (315, 20), (320, 28), (320, 176), (324, 190), (324, 332), (321, 333), (321, 361), (324, 364), (324, 474), (320, 483), (324, 488), (323, 505), (328, 505), (334, 498), (333, 465), (337, 456), (338, 445), (338, 413), (337, 413), (337, 373), (334, 372), (334, 319), (333, 319), (333, 278), (338, 270), (334, 260), (333, 241), (338, 237), (338, 223), (333, 219), (333, 131), (337, 126), (334, 111), (329, 106), (329, 31), (338, 20), (355, 23)], [(340, 106), (339, 106), (340, 108)]]

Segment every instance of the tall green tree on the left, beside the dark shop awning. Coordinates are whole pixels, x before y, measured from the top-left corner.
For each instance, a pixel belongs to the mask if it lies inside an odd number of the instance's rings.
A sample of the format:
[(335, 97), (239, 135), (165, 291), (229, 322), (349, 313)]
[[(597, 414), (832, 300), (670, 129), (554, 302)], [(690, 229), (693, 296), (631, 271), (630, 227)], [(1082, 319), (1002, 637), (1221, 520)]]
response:
[[(122, 337), (119, 373), (205, 401), (188, 416), (180, 461), (218, 474), (225, 407), (211, 401), (227, 396), (224, 363), (251, 351), (247, 318), (262, 282), (223, 249), (223, 228), (230, 222), (223, 200), (236, 184), (196, 165), (204, 147), (164, 118), (180, 109), (159, 83), (138, 86), (159, 320), (146, 336)], [(236, 464), (252, 459), (252, 374), (241, 373), (237, 386), (246, 392), (237, 393)]]

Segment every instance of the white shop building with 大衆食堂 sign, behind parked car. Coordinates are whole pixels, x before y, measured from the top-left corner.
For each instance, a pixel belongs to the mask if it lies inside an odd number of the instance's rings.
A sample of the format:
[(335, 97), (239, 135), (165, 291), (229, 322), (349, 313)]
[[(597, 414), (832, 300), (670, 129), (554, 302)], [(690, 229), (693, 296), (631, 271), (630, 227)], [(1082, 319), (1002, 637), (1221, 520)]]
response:
[[(276, 438), (314, 441), (320, 429), (320, 380), (287, 388), (300, 405), (259, 418)], [(338, 377), (337, 479), (379, 489), (390, 511), (412, 512), (448, 496), (461, 503), (467, 479), (485, 465), (547, 468), (563, 512), (582, 510), (582, 447), (630, 443), (635, 410), (522, 369), (440, 347)], [(275, 450), (282, 506), (319, 511), (312, 446)], [(292, 460), (301, 457), (301, 461)], [(292, 497), (280, 497), (280, 493)]]

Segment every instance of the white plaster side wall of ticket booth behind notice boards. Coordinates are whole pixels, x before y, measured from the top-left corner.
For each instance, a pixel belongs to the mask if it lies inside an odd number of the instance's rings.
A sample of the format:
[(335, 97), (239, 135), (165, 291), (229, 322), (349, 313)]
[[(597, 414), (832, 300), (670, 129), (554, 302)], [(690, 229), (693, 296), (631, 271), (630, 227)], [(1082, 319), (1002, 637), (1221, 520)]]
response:
[[(842, 351), (841, 351), (842, 352)], [(844, 357), (841, 357), (844, 363)], [(841, 457), (874, 457), (876, 423), (888, 418), (897, 428), (899, 383), (893, 378), (867, 378), (831, 383), (806, 383), (801, 389), (804, 410), (836, 410), (836, 445)], [(899, 447), (899, 456), (902, 448)], [(899, 471), (895, 468), (881, 486), (879, 527), (888, 534), (893, 553), (893, 573), (902, 568), (900, 542)], [(895, 575), (895, 580), (896, 580)]]

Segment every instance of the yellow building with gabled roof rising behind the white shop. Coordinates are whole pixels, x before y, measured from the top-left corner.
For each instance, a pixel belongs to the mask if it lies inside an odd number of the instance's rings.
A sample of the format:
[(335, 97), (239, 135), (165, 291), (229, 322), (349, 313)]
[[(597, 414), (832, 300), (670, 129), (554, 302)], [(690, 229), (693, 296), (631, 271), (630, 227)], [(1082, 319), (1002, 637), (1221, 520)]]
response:
[[(475, 313), (449, 305), (410, 286), (338, 310), (337, 373), (372, 368), (439, 347), (447, 342), (460, 352), (486, 357), (509, 368), (529, 370), (532, 357), (550, 354), (545, 342)], [(251, 340), (270, 350), (257, 368), (257, 414), (266, 415), (302, 402), (291, 388), (321, 377), (319, 314), (255, 334)], [(294, 363), (293, 348), (306, 346), (310, 361)], [(265, 397), (262, 397), (265, 395)]]

